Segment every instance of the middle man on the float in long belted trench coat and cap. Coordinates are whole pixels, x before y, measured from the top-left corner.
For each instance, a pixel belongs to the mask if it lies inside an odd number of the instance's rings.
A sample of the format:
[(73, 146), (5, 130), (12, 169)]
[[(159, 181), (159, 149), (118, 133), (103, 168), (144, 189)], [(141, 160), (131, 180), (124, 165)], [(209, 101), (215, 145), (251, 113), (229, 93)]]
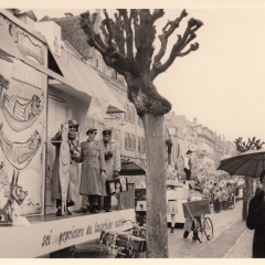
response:
[(80, 194), (83, 195), (82, 208), (77, 213), (89, 212), (98, 213), (99, 197), (102, 195), (102, 171), (105, 171), (104, 152), (97, 140), (95, 140), (97, 129), (91, 127), (87, 129), (88, 136), (86, 141), (81, 142), (81, 158), (82, 162)]

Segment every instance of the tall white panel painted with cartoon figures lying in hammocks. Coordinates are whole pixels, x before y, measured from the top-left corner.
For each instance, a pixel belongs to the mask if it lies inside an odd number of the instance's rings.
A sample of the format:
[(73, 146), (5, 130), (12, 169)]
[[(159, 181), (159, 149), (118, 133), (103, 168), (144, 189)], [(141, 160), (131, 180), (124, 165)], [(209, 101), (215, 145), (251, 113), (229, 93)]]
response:
[(0, 223), (14, 205), (18, 214), (42, 211), (46, 78), (19, 60), (0, 61)]

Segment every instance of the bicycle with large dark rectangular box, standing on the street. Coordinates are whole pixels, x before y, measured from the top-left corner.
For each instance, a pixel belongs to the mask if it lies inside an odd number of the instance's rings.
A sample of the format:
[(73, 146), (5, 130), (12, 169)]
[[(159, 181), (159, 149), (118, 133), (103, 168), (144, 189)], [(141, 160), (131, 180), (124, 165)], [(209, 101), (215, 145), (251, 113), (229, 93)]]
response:
[(208, 241), (213, 239), (212, 220), (205, 214), (211, 213), (209, 200), (199, 200), (183, 203), (184, 216), (192, 221), (192, 230), (202, 243), (204, 239)]

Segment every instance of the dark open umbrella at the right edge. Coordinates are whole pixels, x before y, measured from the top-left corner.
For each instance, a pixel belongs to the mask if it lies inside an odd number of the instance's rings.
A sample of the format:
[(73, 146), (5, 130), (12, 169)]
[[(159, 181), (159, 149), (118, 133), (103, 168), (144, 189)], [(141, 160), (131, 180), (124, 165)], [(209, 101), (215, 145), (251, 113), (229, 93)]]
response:
[(250, 150), (221, 160), (218, 170), (224, 170), (231, 176), (259, 178), (265, 171), (265, 149)]

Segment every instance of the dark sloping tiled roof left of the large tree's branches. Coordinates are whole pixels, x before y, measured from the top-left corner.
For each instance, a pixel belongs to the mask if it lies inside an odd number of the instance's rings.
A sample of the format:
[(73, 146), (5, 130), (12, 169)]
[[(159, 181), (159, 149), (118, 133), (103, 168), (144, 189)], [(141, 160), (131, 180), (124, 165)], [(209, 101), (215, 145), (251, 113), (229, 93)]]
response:
[(80, 25), (80, 15), (52, 20), (62, 28), (64, 36), (74, 49), (76, 49), (85, 60), (88, 60), (91, 57), (92, 47), (87, 44), (87, 36)]

